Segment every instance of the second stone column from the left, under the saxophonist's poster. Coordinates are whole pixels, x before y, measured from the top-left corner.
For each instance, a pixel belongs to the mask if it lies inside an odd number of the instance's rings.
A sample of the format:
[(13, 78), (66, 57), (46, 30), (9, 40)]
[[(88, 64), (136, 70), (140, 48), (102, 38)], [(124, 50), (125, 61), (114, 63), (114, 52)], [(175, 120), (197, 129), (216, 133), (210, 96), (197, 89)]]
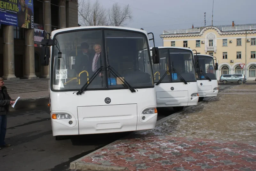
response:
[(34, 29), (26, 29), (25, 78), (36, 79)]

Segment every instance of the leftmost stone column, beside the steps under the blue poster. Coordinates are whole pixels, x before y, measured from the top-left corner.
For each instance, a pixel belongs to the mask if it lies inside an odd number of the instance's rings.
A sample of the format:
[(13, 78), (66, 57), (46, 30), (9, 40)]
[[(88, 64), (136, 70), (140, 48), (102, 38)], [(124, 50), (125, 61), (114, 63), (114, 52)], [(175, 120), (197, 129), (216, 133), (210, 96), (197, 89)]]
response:
[(4, 25), (4, 79), (20, 79), (14, 74), (14, 39), (13, 26)]

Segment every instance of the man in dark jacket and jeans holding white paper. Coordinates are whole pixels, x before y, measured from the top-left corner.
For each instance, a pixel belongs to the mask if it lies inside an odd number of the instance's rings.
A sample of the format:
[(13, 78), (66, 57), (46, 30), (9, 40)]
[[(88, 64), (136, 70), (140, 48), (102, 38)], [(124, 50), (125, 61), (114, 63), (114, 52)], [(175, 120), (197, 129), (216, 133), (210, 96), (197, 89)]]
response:
[(4, 86), (4, 79), (0, 77), (0, 150), (1, 147), (9, 147), (10, 144), (4, 142), (6, 127), (7, 127), (7, 114), (9, 113), (9, 105), (15, 103), (7, 93), (7, 88)]

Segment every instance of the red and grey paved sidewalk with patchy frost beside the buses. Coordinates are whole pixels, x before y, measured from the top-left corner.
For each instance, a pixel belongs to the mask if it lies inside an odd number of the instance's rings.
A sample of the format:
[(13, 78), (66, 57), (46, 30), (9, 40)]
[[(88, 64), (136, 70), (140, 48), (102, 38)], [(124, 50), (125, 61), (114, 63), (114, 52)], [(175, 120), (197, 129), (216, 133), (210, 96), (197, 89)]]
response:
[[(236, 90), (251, 94), (241, 95)], [(234, 90), (234, 91), (232, 91)], [(118, 140), (76, 161), (88, 170), (256, 170), (256, 85), (185, 110), (153, 130)]]

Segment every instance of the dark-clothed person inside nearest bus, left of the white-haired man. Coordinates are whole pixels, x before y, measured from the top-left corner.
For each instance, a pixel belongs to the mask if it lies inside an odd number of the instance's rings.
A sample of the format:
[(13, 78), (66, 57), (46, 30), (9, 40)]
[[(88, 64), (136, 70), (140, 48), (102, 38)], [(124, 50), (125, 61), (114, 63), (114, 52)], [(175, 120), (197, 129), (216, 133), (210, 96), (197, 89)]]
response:
[[(77, 76), (79, 75), (80, 72), (82, 71), (87, 71), (89, 72), (90, 70), (90, 65), (89, 65), (89, 45), (86, 42), (81, 43), (81, 49), (82, 51), (79, 52), (76, 56), (75, 60), (75, 70), (77, 73)], [(81, 79), (80, 82), (81, 84), (85, 84), (87, 81), (87, 73), (84, 72), (80, 75)], [(89, 75), (90, 77), (90, 75)]]

